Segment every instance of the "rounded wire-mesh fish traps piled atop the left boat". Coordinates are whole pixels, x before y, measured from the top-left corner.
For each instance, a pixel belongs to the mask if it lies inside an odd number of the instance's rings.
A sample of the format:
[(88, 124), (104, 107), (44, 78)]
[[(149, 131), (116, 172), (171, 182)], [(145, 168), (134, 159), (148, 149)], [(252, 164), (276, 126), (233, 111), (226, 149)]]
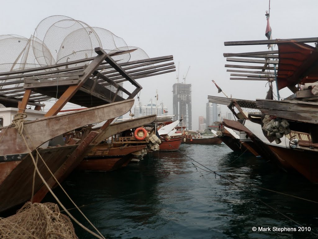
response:
[[(29, 39), (18, 35), (0, 35), (0, 72), (24, 70), (90, 58), (96, 56), (95, 47), (103, 48), (108, 54), (136, 49), (130, 53), (114, 56), (113, 59), (118, 63), (149, 58), (141, 48), (127, 46), (122, 38), (104, 28), (91, 27), (85, 22), (66, 16), (51, 16), (38, 24)], [(87, 62), (68, 67), (78, 67), (85, 64)], [(142, 68), (146, 67), (148, 66)], [(65, 68), (65, 66), (42, 71), (60, 68)], [(7, 81), (3, 80), (2, 83)], [(22, 85), (22, 82), (17, 82), (15, 87)], [(12, 84), (0, 86), (0, 89), (3, 88), (12, 88)], [(111, 90), (114, 91), (114, 89)], [(16, 94), (19, 93), (21, 90), (7, 95), (17, 96)]]

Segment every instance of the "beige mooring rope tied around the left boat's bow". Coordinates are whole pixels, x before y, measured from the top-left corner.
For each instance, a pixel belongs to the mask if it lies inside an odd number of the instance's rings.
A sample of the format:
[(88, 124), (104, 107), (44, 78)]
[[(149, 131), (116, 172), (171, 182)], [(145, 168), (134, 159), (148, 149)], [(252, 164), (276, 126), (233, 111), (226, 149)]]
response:
[[(66, 191), (64, 190), (64, 188), (62, 187), (62, 185), (60, 185), (59, 181), (56, 179), (56, 177), (54, 176), (54, 174), (52, 173), (52, 171), (50, 170), (50, 168), (47, 166), (47, 164), (45, 163), (44, 159), (42, 158), (42, 156), (40, 155), (40, 153), (38, 152), (38, 149), (34, 146), (33, 141), (31, 141), (31, 138), (28, 134), (28, 132), (24, 129), (24, 122), (26, 121), (25, 118), (27, 117), (27, 115), (25, 113), (17, 113), (14, 116), (14, 120), (13, 120), (13, 124), (15, 125), (15, 128), (18, 130), (18, 133), (21, 135), (25, 146), (27, 147), (28, 151), (29, 151), (29, 155), (32, 158), (35, 170), (37, 171), (39, 177), (42, 179), (42, 182), (44, 183), (44, 185), (47, 187), (47, 189), (51, 192), (52, 196), (55, 198), (55, 200), (59, 203), (59, 205), (64, 209), (64, 211), (66, 212), (66, 214), (72, 218), (81, 228), (83, 228), (84, 230), (86, 230), (88, 233), (96, 236), (99, 239), (105, 239), (105, 237), (100, 233), (100, 231), (93, 225), (93, 223), (91, 221), (88, 220), (88, 218), (83, 214), (83, 212), (79, 209), (78, 206), (76, 206), (76, 204), (73, 202), (73, 200), (70, 198), (70, 196), (66, 193)], [(86, 228), (82, 223), (80, 223), (77, 219), (75, 219), (73, 217), (73, 215), (66, 209), (66, 207), (62, 204), (62, 202), (58, 199), (58, 197), (54, 194), (54, 192), (52, 191), (51, 187), (47, 184), (47, 182), (45, 181), (44, 177), (42, 176), (42, 174), (40, 173), (38, 166), (37, 166), (37, 162), (35, 161), (33, 155), (32, 155), (32, 150), (29, 148), (29, 145), (27, 143), (27, 141), (25, 140), (23, 131), (25, 131), (25, 133), (27, 134), (27, 137), (29, 137), (29, 140), (31, 141), (31, 144), (33, 146), (33, 148), (35, 148), (36, 152), (37, 152), (37, 157), (40, 156), (42, 163), (45, 165), (45, 167), (48, 169), (48, 171), (51, 173), (51, 176), (54, 178), (54, 180), (57, 182), (57, 184), (61, 187), (61, 189), (63, 190), (63, 192), (66, 194), (66, 196), (71, 200), (71, 202), (74, 204), (74, 206), (76, 206), (76, 208), (79, 210), (79, 212), (84, 216), (84, 218), (88, 221), (88, 223), (98, 232), (97, 235), (96, 233), (94, 233), (93, 231), (91, 231), (90, 229)], [(35, 180), (35, 177), (33, 177), (33, 180)], [(33, 182), (34, 184), (34, 182)], [(33, 191), (33, 190), (32, 190)]]

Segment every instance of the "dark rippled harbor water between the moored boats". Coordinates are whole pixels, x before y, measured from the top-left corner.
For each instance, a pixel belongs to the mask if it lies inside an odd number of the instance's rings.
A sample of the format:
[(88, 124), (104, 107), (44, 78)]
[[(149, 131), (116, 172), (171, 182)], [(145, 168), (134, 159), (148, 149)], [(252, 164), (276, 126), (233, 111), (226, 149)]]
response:
[[(263, 159), (239, 155), (224, 144), (183, 144), (180, 152), (150, 155), (122, 170), (73, 173), (63, 186), (106, 238), (317, 238), (311, 233), (318, 233), (317, 203), (250, 185), (314, 201), (318, 186)], [(187, 156), (245, 184), (232, 185)], [(55, 192), (67, 208), (73, 207), (60, 190)], [(45, 200), (53, 201), (50, 195)], [(264, 203), (311, 232), (298, 231), (297, 224)], [(88, 227), (76, 210), (71, 213)], [(79, 238), (93, 238), (76, 225), (75, 230)]]

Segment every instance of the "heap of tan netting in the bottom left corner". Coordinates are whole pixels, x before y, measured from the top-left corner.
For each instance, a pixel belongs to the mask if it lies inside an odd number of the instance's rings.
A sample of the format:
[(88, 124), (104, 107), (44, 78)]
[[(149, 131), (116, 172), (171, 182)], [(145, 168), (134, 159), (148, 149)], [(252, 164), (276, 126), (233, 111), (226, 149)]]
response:
[(7, 218), (0, 218), (0, 238), (78, 239), (71, 220), (54, 203), (27, 202)]

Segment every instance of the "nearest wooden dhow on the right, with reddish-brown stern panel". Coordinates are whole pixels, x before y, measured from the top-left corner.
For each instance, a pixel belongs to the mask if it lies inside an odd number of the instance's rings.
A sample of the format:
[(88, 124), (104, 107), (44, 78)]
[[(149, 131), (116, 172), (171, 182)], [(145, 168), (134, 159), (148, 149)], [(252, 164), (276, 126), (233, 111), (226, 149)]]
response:
[[(234, 68), (227, 70), (232, 72), (231, 76), (235, 76), (231, 77), (231, 80), (268, 81), (270, 85), (275, 81), (278, 99), (280, 99), (279, 90), (285, 87), (294, 93), (282, 101), (274, 101), (271, 98), (258, 99), (255, 102), (255, 109), (260, 110), (261, 117), (254, 117), (253, 113), (248, 113), (245, 117), (240, 118), (242, 111), (239, 110), (238, 119), (247, 118), (253, 122), (259, 121), (258, 124), (269, 141), (262, 142), (270, 149), (275, 158), (285, 168), (298, 171), (314, 183), (318, 182), (315, 160), (318, 156), (315, 148), (315, 144), (318, 142), (316, 119), (318, 97), (315, 90), (318, 88), (316, 86), (318, 84), (316, 67), (318, 54), (316, 47), (305, 43), (317, 41), (318, 39), (315, 37), (225, 42), (226, 46), (277, 44), (278, 50), (224, 53), (229, 62), (249, 63), (248, 65), (225, 65), (225, 67)], [(257, 58), (265, 58), (265, 60)], [(278, 71), (276, 72), (276, 70)]]

